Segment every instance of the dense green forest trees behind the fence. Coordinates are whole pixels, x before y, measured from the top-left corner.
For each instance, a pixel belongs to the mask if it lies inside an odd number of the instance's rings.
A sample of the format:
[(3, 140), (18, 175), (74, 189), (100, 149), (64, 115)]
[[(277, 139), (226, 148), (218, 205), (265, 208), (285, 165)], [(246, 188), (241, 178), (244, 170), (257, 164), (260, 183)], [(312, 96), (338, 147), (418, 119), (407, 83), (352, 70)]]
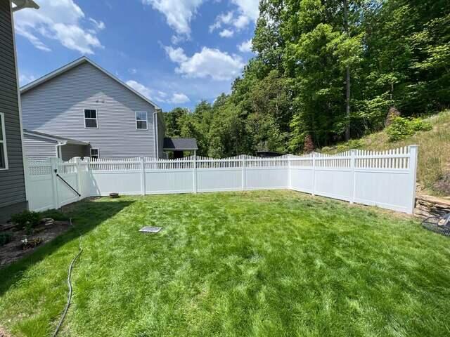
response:
[(298, 153), (450, 106), (449, 0), (262, 0), (229, 95), (165, 114), (198, 154)]

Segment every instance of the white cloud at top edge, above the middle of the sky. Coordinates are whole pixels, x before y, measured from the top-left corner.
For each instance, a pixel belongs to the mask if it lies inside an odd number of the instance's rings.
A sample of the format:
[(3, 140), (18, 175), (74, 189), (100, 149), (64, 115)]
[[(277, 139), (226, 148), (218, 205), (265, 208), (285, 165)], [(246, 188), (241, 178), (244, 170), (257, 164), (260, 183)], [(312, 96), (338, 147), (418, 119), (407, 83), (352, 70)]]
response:
[(191, 20), (204, 0), (142, 0), (165, 15), (167, 25), (178, 34), (191, 34)]

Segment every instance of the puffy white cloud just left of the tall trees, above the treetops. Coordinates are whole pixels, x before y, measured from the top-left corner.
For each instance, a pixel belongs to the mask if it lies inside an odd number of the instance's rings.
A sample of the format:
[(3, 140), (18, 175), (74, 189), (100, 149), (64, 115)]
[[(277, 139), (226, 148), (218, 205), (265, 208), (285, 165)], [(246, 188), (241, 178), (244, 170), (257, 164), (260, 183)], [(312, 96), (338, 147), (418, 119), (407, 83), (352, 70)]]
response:
[(243, 60), (238, 55), (203, 47), (199, 53), (190, 58), (182, 48), (165, 47), (170, 60), (178, 63), (175, 72), (191, 78), (210, 77), (216, 81), (226, 81), (237, 77), (244, 67)]

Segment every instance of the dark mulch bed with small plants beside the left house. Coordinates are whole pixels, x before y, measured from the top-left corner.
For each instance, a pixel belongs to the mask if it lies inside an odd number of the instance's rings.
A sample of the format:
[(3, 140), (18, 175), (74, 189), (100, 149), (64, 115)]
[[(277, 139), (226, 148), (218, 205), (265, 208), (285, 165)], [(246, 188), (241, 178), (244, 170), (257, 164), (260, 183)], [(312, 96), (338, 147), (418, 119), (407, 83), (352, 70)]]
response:
[[(13, 263), (16, 260), (23, 258), (23, 256), (32, 253), (32, 251), (37, 249), (39, 246), (42, 246), (55, 237), (58, 237), (58, 235), (67, 232), (69, 228), (70, 223), (68, 221), (52, 220), (47, 221), (46, 223), (41, 223), (39, 226), (34, 228), (32, 234), (27, 234), (25, 230), (17, 230), (17, 228), (11, 224), (0, 224), (0, 232), (11, 232), (11, 234), (13, 234), (11, 242), (4, 244), (4, 246), (0, 246), (0, 267), (4, 267), (5, 265)], [(23, 243), (21, 240), (25, 238), (27, 238), (28, 242), (31, 242), (32, 240), (41, 242), (34, 248), (23, 249)]]

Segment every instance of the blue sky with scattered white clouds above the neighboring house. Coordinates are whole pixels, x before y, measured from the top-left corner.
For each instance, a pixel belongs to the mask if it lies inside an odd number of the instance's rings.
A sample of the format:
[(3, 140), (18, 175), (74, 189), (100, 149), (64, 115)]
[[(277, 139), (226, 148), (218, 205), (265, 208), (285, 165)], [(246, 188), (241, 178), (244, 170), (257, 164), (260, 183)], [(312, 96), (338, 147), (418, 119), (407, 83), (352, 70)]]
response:
[(253, 56), (258, 0), (36, 0), (15, 13), (20, 84), (82, 55), (163, 110), (229, 93)]

